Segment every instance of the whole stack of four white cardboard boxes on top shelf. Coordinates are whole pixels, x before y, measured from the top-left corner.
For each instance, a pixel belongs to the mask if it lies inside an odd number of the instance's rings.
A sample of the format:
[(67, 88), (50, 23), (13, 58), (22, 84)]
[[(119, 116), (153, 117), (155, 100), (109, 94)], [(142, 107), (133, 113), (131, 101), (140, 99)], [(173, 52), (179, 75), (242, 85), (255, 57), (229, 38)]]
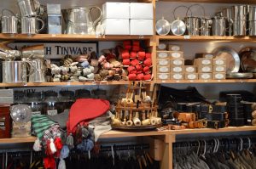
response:
[(104, 3), (105, 35), (153, 35), (152, 3)]

